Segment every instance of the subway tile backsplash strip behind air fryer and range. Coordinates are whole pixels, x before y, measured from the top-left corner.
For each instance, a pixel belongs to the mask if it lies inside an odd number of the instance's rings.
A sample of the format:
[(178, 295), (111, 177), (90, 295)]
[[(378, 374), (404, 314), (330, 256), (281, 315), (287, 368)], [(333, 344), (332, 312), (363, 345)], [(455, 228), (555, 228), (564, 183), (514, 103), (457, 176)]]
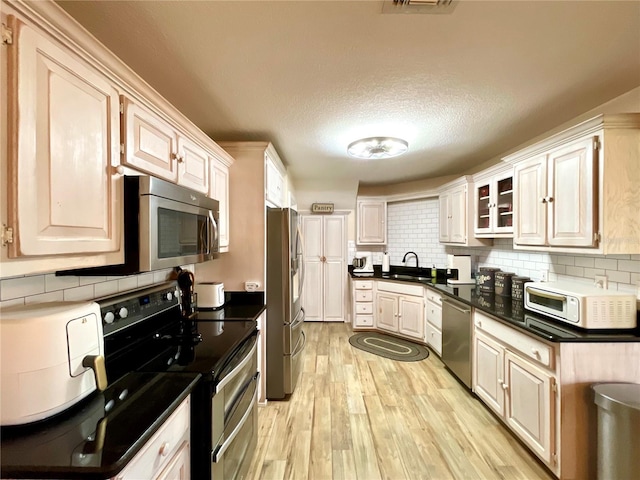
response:
[[(193, 272), (195, 265), (183, 265), (182, 268)], [(173, 269), (167, 268), (125, 277), (56, 277), (50, 273), (7, 278), (0, 280), (0, 306), (93, 300), (162, 283), (172, 276)]]

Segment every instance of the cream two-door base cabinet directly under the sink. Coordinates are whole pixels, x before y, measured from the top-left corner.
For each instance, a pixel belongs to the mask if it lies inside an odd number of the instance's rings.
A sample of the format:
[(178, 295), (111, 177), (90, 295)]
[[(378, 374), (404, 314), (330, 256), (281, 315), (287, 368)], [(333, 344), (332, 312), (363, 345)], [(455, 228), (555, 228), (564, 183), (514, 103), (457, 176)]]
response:
[(426, 343), (424, 287), (376, 283), (376, 327)]

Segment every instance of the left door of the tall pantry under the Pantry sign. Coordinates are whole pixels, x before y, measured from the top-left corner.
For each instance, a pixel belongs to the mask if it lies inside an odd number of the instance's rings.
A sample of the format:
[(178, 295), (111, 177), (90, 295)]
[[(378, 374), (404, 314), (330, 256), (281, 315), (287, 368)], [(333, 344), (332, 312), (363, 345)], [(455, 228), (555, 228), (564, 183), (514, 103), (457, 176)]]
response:
[(302, 216), (302, 238), (304, 239), (304, 286), (302, 287), (302, 306), (306, 320), (321, 322), (324, 318), (322, 307), (323, 281), (323, 228), (322, 216)]

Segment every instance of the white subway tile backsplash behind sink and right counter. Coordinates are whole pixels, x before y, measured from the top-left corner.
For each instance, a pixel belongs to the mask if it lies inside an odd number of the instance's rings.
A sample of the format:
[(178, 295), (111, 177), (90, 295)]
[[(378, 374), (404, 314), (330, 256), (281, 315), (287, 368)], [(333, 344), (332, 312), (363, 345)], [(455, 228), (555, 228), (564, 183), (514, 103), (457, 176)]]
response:
[[(391, 265), (402, 265), (408, 251), (417, 253), (421, 267), (446, 266), (447, 254), (471, 255), (472, 268), (491, 266), (541, 280), (592, 283), (595, 275), (608, 277), (610, 290), (636, 293), (640, 282), (640, 255), (572, 255), (521, 252), (510, 238), (495, 239), (492, 247), (445, 247), (438, 241), (438, 199), (393, 202), (387, 206), (387, 251)], [(408, 265), (414, 265), (413, 257)], [(374, 263), (381, 263), (374, 255)]]

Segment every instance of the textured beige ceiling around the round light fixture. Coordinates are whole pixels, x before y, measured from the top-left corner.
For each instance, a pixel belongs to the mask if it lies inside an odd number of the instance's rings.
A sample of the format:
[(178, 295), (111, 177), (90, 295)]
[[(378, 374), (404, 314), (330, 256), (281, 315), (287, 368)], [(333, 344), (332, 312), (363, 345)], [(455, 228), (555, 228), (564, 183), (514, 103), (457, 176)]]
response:
[[(335, 189), (466, 173), (640, 85), (639, 1), (58, 2), (214, 140)], [(396, 159), (355, 139), (409, 142)]]

